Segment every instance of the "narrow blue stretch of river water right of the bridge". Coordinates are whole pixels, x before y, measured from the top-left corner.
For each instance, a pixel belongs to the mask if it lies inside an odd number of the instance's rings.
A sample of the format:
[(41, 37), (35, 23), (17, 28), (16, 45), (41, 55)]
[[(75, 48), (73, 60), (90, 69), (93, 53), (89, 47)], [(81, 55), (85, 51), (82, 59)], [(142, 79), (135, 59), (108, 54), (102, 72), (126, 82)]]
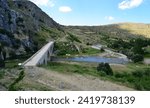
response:
[(114, 63), (114, 64), (126, 64), (127, 59), (123, 58), (105, 58), (98, 56), (87, 56), (87, 57), (71, 57), (71, 58), (53, 58), (53, 61), (75, 61), (75, 62), (95, 62), (95, 63)]

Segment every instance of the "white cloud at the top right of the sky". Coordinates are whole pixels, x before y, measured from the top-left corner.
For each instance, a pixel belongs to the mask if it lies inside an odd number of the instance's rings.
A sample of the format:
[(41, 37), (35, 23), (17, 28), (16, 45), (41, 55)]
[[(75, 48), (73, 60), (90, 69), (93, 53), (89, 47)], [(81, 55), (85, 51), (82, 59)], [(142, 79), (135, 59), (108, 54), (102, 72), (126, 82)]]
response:
[(125, 10), (125, 9), (131, 9), (138, 7), (141, 5), (143, 0), (124, 0), (121, 3), (119, 3), (118, 8)]

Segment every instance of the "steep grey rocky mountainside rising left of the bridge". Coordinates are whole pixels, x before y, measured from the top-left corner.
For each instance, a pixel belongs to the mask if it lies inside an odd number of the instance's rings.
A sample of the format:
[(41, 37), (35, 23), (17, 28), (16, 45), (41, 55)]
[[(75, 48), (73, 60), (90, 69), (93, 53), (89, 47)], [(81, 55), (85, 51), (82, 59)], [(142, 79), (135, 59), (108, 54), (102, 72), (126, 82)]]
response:
[(63, 33), (61, 26), (32, 2), (0, 0), (0, 59), (35, 52)]

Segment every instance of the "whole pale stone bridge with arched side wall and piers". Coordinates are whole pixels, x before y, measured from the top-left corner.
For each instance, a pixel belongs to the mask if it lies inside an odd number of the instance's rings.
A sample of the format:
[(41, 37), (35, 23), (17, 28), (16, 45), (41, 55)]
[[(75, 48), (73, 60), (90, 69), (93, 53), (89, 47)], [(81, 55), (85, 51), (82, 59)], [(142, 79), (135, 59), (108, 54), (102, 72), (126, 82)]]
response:
[(51, 60), (53, 52), (54, 42), (51, 41), (43, 46), (39, 51), (37, 51), (32, 57), (26, 60), (23, 66), (37, 66), (42, 64), (47, 64)]

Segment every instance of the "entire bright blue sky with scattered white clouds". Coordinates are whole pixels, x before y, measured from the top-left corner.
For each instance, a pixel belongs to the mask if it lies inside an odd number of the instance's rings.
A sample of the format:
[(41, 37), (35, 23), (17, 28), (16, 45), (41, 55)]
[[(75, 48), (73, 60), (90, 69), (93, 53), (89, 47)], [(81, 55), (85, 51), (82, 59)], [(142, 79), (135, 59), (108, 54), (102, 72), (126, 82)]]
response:
[(150, 0), (30, 0), (62, 25), (150, 23)]

